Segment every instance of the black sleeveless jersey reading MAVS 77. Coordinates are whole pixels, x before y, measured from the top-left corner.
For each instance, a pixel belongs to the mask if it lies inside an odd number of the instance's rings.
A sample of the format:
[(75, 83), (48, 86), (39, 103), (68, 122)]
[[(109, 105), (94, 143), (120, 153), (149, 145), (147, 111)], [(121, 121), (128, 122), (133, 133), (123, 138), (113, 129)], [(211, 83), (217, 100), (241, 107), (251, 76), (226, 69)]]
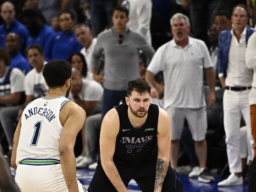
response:
[(155, 104), (150, 104), (148, 117), (140, 129), (135, 129), (128, 117), (126, 103), (116, 107), (120, 128), (116, 138), (116, 149), (113, 156), (116, 165), (139, 165), (157, 157), (157, 124), (159, 109)]

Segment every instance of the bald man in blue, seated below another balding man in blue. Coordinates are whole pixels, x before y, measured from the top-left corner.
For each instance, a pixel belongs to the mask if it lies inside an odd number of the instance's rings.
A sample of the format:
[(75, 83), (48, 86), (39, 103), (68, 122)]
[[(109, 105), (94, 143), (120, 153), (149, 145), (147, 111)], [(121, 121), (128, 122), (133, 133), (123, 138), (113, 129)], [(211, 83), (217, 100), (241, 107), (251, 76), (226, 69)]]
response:
[(5, 47), (11, 55), (10, 68), (19, 68), (25, 75), (30, 71), (30, 66), (25, 57), (20, 53), (20, 38), (16, 33), (9, 33), (5, 37)]

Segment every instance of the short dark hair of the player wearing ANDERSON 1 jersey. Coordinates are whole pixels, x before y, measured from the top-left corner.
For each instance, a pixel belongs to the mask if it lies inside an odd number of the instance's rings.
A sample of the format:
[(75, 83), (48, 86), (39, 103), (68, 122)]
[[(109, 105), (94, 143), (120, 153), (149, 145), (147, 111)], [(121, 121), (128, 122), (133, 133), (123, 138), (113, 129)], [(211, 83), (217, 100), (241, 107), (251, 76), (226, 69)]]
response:
[(45, 64), (43, 76), (49, 88), (61, 87), (71, 78), (71, 65), (60, 59), (50, 60)]

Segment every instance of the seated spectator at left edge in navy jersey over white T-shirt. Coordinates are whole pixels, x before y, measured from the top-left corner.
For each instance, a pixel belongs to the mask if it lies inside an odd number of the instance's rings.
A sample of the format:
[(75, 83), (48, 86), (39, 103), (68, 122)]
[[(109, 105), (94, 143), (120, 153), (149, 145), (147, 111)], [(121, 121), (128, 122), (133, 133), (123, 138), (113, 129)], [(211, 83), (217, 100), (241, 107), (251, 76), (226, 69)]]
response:
[[(10, 68), (10, 63), (9, 53), (0, 48), (0, 122), (10, 150), (8, 155), (11, 153), (12, 138), (15, 132), (13, 124), (19, 108), (25, 101), (25, 75), (18, 68)], [(0, 135), (3, 135), (3, 131)]]

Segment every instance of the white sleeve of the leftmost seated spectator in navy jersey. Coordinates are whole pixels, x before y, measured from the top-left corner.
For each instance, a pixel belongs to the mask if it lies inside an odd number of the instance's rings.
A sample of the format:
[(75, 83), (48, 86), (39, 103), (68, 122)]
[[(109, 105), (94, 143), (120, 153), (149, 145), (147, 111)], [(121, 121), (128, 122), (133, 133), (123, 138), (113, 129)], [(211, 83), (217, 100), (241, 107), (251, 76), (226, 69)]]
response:
[(13, 68), (10, 75), (11, 94), (24, 91), (25, 75), (18, 68)]

